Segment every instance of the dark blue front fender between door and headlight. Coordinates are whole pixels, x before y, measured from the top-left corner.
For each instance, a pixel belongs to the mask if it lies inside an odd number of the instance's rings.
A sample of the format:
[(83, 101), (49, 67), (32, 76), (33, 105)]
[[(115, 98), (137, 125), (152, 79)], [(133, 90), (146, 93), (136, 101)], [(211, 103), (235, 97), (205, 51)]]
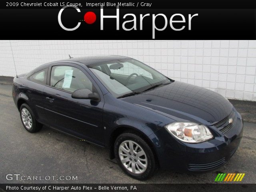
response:
[(113, 98), (110, 94), (106, 94), (104, 98), (104, 138), (106, 148), (110, 149), (110, 157), (113, 158), (116, 137), (127, 130), (138, 133), (158, 154), (161, 143), (155, 132), (170, 123), (172, 119), (144, 107)]

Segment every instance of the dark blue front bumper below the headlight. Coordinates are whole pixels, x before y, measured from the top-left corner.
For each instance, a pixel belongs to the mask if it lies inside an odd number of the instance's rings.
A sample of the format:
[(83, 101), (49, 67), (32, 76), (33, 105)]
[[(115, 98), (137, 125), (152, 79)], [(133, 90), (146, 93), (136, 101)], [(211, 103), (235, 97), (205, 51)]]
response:
[(216, 129), (214, 139), (198, 144), (184, 143), (171, 136), (167, 139), (166, 130), (159, 130), (157, 137), (165, 138), (157, 147), (160, 167), (184, 172), (207, 171), (223, 165), (236, 152), (242, 138), (243, 122), (238, 112), (236, 118), (232, 130), (222, 134)]

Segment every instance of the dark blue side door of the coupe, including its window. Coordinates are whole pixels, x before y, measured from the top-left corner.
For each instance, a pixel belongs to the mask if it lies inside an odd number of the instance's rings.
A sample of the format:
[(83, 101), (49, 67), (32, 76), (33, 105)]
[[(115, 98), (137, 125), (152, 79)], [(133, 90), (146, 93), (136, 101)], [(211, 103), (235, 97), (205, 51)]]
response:
[[(48, 77), (44, 108), (50, 126), (103, 145), (103, 95), (88, 72), (78, 64), (57, 63), (50, 65)], [(97, 92), (100, 102), (72, 98), (72, 93), (82, 88)]]

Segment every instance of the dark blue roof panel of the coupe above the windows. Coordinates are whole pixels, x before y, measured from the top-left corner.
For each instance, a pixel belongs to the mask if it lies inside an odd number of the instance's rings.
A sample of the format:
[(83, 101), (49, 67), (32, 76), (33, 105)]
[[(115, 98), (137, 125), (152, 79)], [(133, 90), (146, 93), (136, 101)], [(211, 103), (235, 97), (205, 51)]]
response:
[[(85, 57), (77, 57), (77, 58), (70, 58), (70, 59), (65, 59), (65, 60), (59, 60), (56, 62), (80, 62), (84, 65), (91, 65), (91, 64), (97, 64), (101, 62), (108, 62), (108, 61), (113, 61), (113, 60), (120, 60), (120, 59), (128, 59), (129, 57), (125, 56), (116, 56), (116, 55), (98, 55), (98, 56), (85, 56)], [(54, 62), (55, 63), (55, 62)]]

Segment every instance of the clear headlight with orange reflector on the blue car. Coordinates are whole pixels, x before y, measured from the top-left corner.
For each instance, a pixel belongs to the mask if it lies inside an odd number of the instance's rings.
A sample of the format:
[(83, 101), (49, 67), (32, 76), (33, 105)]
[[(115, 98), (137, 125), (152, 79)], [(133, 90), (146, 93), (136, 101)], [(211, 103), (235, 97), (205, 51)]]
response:
[(173, 136), (187, 143), (200, 143), (213, 138), (210, 130), (192, 122), (174, 122), (164, 126)]

